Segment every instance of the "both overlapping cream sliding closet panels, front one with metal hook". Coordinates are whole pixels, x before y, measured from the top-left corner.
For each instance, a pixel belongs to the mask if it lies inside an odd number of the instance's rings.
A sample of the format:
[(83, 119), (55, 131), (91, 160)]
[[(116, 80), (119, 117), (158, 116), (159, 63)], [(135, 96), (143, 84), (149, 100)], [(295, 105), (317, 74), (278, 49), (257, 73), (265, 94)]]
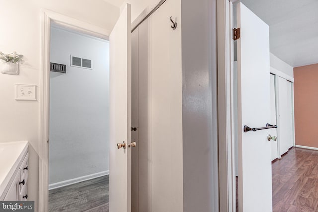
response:
[(170, 22), (181, 20), (179, 3), (166, 1), (132, 33), (132, 211), (183, 212), (181, 24)]

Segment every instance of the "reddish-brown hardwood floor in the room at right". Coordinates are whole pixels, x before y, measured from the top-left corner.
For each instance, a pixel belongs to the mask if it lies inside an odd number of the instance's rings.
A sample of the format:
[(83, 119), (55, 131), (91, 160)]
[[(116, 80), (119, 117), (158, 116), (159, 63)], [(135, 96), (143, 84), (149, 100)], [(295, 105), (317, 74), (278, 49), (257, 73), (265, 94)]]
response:
[[(318, 151), (291, 148), (272, 162), (273, 212), (318, 212)], [(237, 188), (237, 212), (238, 178)]]

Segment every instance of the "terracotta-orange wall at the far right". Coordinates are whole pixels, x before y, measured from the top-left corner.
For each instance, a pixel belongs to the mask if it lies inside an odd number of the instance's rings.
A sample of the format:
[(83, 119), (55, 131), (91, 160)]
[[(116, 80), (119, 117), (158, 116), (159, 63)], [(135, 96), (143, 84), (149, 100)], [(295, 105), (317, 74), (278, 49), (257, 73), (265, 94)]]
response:
[(318, 64), (294, 68), (295, 142), (318, 148)]

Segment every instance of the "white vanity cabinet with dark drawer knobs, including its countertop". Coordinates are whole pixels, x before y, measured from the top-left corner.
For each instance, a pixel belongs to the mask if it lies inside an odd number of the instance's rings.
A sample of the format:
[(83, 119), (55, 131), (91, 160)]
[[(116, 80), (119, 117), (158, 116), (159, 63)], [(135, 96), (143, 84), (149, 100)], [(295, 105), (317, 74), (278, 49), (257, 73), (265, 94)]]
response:
[(1, 149), (3, 154), (1, 154), (0, 159), (8, 161), (8, 164), (5, 166), (2, 164), (4, 172), (0, 175), (0, 201), (27, 200), (28, 143), (0, 144)]

